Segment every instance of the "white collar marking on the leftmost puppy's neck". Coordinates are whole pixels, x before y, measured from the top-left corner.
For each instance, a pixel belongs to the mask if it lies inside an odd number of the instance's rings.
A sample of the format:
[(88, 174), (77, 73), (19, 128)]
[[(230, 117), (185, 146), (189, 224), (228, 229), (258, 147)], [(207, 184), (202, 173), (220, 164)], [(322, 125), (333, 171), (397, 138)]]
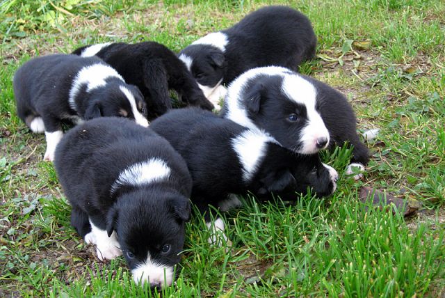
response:
[(122, 79), (121, 75), (119, 75), (114, 68), (103, 63), (95, 63), (81, 68), (72, 81), (70, 97), (68, 100), (70, 107), (74, 111), (77, 111), (75, 98), (83, 84), (87, 84), (86, 91), (90, 92), (94, 88), (105, 86), (105, 80), (110, 77), (118, 78), (124, 82), (124, 79)]

